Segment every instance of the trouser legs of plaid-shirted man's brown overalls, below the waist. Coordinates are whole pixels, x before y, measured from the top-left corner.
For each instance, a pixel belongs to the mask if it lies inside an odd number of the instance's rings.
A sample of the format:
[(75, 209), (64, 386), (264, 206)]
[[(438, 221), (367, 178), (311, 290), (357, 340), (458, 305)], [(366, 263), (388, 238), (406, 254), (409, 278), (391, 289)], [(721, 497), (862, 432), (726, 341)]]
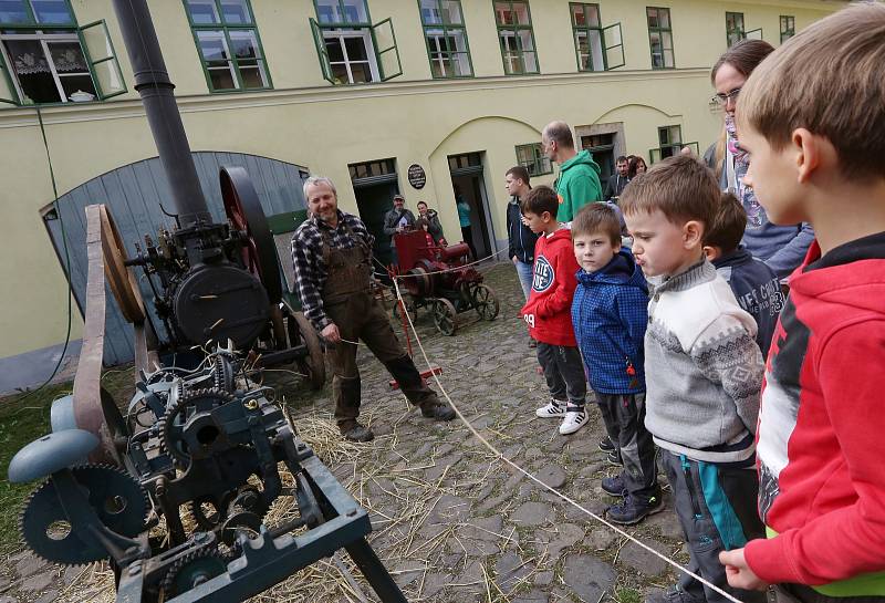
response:
[[(341, 336), (362, 341), (399, 383), (399, 388), (413, 404), (436, 402), (436, 393), (427, 387), (415, 363), (396, 339), (387, 312), (369, 293), (350, 295), (346, 301), (326, 304), (325, 313)], [(356, 345), (339, 342), (326, 347), (326, 361), (332, 367), (332, 398), (335, 420), (342, 432), (356, 424), (360, 416), (362, 386), (356, 366)]]

